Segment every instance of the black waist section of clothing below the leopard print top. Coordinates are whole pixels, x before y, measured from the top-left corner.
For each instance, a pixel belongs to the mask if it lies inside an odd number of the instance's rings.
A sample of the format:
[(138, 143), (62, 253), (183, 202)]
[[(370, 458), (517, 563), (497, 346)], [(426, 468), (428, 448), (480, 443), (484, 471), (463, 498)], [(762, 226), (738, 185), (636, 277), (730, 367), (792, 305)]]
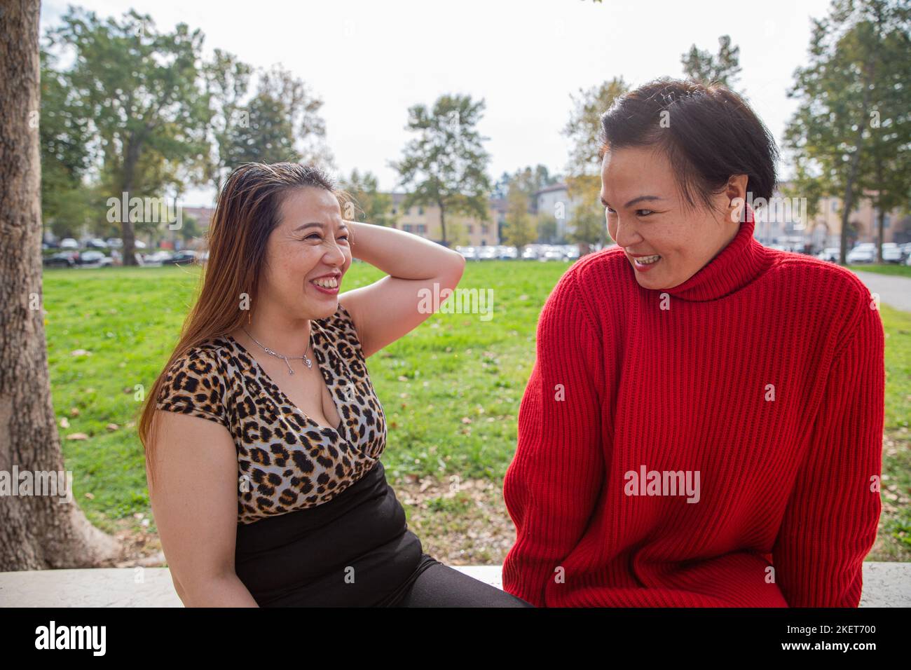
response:
[(261, 607), (392, 606), (435, 563), (380, 461), (328, 502), (237, 527), (234, 570)]

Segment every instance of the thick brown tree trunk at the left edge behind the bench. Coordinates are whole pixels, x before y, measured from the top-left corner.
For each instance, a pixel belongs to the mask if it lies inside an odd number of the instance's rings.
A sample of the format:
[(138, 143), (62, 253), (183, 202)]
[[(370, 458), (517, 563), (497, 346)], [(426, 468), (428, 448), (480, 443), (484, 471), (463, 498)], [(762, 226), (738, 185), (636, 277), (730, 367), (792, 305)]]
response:
[(64, 469), (42, 305), (39, 5), (0, 6), (0, 471), (15, 493), (0, 496), (0, 571), (90, 566), (118, 554), (75, 501), (58, 501), (62, 492), (20, 488), (23, 473), (56, 479)]

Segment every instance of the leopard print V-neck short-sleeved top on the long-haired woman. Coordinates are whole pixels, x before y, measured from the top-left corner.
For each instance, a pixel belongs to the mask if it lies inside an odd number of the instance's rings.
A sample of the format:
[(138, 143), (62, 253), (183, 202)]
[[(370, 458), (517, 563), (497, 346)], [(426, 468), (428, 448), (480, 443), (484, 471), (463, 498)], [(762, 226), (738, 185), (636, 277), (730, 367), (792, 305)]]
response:
[(230, 335), (195, 346), (169, 367), (156, 407), (228, 428), (237, 447), (238, 523), (320, 505), (361, 479), (383, 453), (383, 407), (342, 304), (313, 320), (312, 351), (341, 422), (307, 417)]

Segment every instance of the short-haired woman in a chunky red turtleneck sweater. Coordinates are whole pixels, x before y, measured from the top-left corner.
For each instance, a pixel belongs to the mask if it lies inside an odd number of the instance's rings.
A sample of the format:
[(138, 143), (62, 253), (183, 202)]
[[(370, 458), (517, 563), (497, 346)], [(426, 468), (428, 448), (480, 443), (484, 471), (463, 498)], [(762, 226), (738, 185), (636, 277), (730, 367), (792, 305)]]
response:
[(722, 87), (660, 79), (602, 117), (616, 247), (537, 325), (504, 498), (537, 606), (857, 606), (875, 541), (883, 327), (855, 274), (773, 251), (774, 141)]

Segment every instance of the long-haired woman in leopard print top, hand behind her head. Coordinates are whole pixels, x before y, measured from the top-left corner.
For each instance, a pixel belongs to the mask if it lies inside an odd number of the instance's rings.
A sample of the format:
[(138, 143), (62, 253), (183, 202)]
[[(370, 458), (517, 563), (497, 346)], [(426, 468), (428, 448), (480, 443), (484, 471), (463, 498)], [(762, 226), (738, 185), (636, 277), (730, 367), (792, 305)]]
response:
[[(365, 365), (431, 314), (461, 255), (346, 221), (321, 170), (231, 172), (200, 297), (139, 423), (162, 548), (188, 606), (530, 606), (435, 561), (380, 457)], [(339, 294), (352, 258), (387, 273)]]

